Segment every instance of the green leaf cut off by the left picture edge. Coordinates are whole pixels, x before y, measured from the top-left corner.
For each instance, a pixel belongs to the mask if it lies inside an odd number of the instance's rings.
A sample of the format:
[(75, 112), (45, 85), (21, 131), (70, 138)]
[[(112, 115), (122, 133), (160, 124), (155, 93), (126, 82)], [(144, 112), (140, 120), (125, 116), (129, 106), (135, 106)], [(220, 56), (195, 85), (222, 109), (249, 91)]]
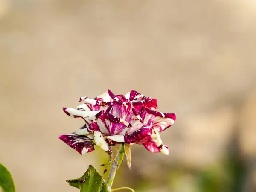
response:
[(11, 173), (0, 163), (0, 187), (3, 192), (15, 192)]

